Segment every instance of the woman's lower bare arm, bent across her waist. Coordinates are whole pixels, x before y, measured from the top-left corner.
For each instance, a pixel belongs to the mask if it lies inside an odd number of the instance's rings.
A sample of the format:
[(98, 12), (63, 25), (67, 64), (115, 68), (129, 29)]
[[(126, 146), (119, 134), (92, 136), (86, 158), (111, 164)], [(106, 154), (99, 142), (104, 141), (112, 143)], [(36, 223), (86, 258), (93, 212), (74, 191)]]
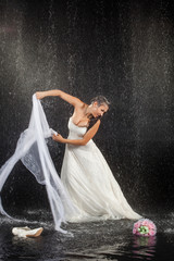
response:
[(96, 135), (96, 133), (99, 129), (99, 126), (100, 120), (98, 120), (97, 123), (84, 135), (83, 139), (65, 139), (60, 134), (53, 135), (52, 138), (53, 140), (59, 141), (61, 144), (84, 146)]

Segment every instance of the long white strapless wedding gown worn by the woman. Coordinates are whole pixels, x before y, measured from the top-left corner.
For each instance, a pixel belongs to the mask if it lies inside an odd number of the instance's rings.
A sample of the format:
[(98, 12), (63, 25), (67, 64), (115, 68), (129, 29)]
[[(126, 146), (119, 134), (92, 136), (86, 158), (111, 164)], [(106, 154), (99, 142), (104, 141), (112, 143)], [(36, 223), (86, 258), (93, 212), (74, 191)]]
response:
[[(87, 130), (76, 126), (72, 117), (69, 129), (69, 139), (82, 139)], [(141, 217), (128, 204), (92, 139), (85, 146), (66, 145), (61, 179), (77, 210), (75, 215), (66, 214), (66, 221)]]

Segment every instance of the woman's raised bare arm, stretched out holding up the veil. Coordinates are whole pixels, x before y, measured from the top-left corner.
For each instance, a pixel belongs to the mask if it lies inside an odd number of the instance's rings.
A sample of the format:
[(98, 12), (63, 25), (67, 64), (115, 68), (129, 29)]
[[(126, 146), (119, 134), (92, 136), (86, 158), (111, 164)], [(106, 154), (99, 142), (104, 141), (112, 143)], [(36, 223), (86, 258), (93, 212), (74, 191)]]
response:
[(61, 99), (67, 101), (70, 104), (74, 105), (74, 107), (77, 107), (77, 105), (80, 107), (80, 105), (84, 104), (84, 102), (80, 101), (78, 98), (76, 98), (74, 96), (71, 96), (71, 95), (67, 95), (66, 92), (64, 92), (62, 90), (59, 90), (59, 89), (37, 91), (36, 92), (36, 98), (39, 99), (39, 100), (45, 98), (45, 97), (48, 97), (48, 96), (58, 96)]

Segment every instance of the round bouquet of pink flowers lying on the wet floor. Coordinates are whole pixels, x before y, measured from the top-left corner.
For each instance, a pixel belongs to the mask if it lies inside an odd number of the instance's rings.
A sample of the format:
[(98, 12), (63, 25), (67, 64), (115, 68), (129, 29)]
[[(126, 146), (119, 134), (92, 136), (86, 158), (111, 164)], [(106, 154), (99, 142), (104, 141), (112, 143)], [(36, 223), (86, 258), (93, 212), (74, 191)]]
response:
[(148, 219), (141, 219), (134, 223), (133, 234), (138, 236), (154, 236), (157, 227), (154, 223)]

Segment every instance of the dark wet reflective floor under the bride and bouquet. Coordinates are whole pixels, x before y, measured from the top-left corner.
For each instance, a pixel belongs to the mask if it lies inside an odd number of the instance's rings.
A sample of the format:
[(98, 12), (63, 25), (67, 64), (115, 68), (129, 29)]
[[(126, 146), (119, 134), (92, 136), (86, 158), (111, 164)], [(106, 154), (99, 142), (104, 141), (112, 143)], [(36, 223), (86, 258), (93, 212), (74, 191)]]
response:
[[(157, 225), (154, 237), (134, 236), (134, 221), (128, 220), (64, 225), (72, 236), (55, 232), (49, 219), (11, 221), (1, 216), (0, 260), (174, 260), (174, 213), (148, 217)], [(45, 229), (38, 238), (12, 235), (13, 226), (25, 225)]]

